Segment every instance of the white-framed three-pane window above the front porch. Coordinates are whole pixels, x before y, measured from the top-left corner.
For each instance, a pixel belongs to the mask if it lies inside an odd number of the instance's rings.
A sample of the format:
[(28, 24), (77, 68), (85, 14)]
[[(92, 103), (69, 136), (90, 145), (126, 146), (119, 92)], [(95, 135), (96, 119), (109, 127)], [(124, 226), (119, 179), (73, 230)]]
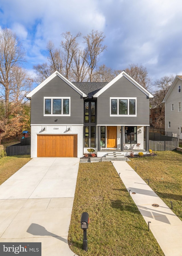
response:
[(110, 97), (110, 116), (137, 116), (137, 98)]

